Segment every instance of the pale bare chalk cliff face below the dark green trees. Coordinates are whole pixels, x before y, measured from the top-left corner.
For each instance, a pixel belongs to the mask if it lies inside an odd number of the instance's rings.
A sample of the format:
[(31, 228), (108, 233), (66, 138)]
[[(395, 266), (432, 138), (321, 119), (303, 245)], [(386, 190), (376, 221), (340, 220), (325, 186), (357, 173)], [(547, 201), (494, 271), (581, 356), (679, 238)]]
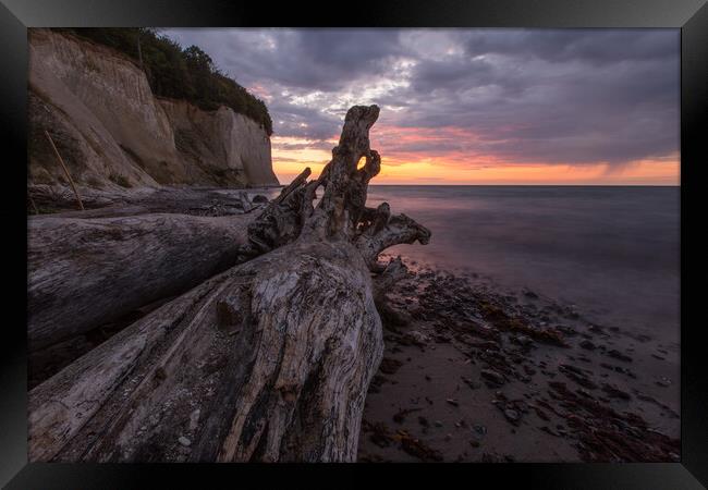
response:
[(203, 111), (156, 98), (143, 71), (110, 48), (29, 29), (29, 175), (90, 186), (277, 184), (270, 140), (225, 107)]

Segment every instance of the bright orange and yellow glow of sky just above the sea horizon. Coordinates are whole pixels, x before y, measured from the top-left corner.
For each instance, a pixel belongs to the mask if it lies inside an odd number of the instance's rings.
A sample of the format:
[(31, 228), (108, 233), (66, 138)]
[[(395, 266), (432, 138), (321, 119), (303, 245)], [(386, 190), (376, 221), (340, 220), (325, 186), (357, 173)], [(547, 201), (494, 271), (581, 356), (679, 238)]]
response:
[[(396, 128), (398, 130), (398, 128)], [(624, 166), (603, 162), (587, 164), (514, 163), (464, 151), (431, 155), (425, 151), (387, 152), (389, 142), (430, 142), (436, 135), (416, 134), (415, 128), (393, 134), (386, 131), (373, 137), (373, 147), (382, 155), (381, 172), (371, 181), (390, 185), (679, 185), (680, 157), (676, 152), (657, 159), (644, 159)], [(373, 135), (374, 136), (374, 135)], [(450, 134), (444, 137), (449, 137)], [(467, 135), (468, 136), (468, 135)], [(376, 140), (378, 139), (378, 140)], [(331, 159), (337, 139), (327, 140), (330, 149), (309, 147), (301, 138), (273, 137), (273, 170), (281, 184), (290, 183), (305, 167), (318, 175)], [(391, 144), (393, 146), (393, 144)], [(390, 155), (387, 158), (387, 155)]]

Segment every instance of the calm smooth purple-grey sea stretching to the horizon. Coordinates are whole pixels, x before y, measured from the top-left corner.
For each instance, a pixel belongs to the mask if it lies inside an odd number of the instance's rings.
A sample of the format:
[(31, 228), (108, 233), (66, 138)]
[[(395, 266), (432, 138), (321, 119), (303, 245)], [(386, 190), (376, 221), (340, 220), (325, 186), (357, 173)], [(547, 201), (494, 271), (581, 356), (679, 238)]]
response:
[(680, 188), (371, 186), (432, 231), (388, 252), (575, 304), (600, 324), (679, 339)]

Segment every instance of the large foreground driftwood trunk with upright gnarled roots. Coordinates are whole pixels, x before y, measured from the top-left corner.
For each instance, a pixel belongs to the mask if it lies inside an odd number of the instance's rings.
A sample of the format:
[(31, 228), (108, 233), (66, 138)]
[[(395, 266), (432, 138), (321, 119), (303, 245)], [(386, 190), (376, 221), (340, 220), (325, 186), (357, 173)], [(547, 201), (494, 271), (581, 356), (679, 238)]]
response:
[(354, 461), (383, 348), (377, 296), (405, 274), (378, 254), (430, 236), (365, 206), (378, 113), (350, 109), (321, 175), (251, 223), (242, 264), (33, 389), (29, 458)]

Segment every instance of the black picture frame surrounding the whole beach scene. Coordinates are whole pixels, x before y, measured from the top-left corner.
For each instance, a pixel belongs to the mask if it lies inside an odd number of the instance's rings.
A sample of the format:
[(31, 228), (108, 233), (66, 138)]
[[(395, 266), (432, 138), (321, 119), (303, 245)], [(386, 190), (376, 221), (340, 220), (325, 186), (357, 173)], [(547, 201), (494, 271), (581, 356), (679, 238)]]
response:
[[(314, 13), (317, 12), (317, 13)], [(47, 26), (377, 26), (377, 27), (674, 27), (681, 29), (681, 443), (680, 463), (666, 464), (471, 464), (471, 465), (187, 465), (187, 464), (27, 464), (26, 420), (26, 99), (27, 27)], [(371, 485), (373, 471), (441, 485), (441, 471), (459, 483), (493, 488), (699, 489), (708, 486), (708, 377), (700, 310), (700, 283), (692, 280), (700, 219), (689, 206), (708, 163), (708, 5), (706, 0), (436, 0), (328, 3), (308, 10), (300, 2), (220, 0), (2, 0), (0, 5), (3, 147), (2, 222), (5, 302), (0, 345), (0, 483), (8, 489), (50, 488), (211, 488), (274, 478), (328, 487)], [(23, 164), (21, 164), (21, 162)], [(24, 169), (24, 170), (23, 170)], [(23, 175), (24, 172), (24, 175)], [(687, 246), (691, 245), (691, 250)], [(691, 257), (691, 262), (687, 261)], [(14, 315), (8, 315), (12, 311)], [(693, 321), (693, 323), (692, 323)], [(320, 477), (319, 473), (326, 473)], [(257, 480), (251, 480), (255, 478)], [(403, 485), (403, 480), (395, 485)], [(444, 483), (443, 483), (444, 485)], [(300, 485), (298, 485), (300, 486)]]

